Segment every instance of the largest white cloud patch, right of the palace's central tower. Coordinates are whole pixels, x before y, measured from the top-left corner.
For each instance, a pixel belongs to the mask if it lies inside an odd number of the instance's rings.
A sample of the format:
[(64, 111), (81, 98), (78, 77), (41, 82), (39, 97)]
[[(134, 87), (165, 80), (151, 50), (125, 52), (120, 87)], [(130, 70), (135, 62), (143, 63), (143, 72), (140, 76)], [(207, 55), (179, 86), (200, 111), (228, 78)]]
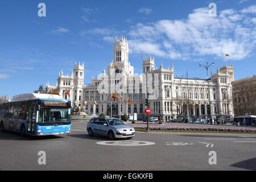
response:
[[(253, 12), (253, 7), (246, 10)], [(249, 56), (256, 45), (256, 27), (245, 23), (251, 18), (233, 9), (221, 11), (217, 17), (209, 17), (208, 11), (208, 8), (199, 8), (187, 19), (138, 23), (128, 33), (130, 52), (170, 59), (205, 55), (223, 57), (225, 53), (229, 53), (229, 59), (233, 60)]]

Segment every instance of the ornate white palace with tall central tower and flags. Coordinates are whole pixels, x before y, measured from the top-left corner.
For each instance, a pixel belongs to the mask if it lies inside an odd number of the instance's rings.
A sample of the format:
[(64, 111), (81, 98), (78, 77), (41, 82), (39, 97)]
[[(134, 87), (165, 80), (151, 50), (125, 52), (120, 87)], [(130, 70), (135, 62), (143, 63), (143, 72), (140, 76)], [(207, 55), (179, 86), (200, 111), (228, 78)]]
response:
[[(51, 89), (57, 89), (60, 96), (72, 100), (72, 105), (86, 104), (86, 113), (93, 113), (94, 101), (97, 102), (96, 114), (133, 114), (137, 113), (139, 119), (144, 119), (145, 99), (149, 93), (151, 108), (150, 117), (164, 119), (185, 117), (187, 111), (190, 118), (207, 118), (209, 108), (211, 114), (217, 118), (233, 118), (232, 85), (234, 69), (222, 67), (217, 72), (211, 72), (209, 78), (210, 102), (208, 96), (208, 80), (201, 78), (175, 77), (174, 65), (171, 68), (159, 68), (155, 66), (154, 57), (143, 57), (141, 75), (134, 75), (134, 67), (129, 62), (129, 44), (126, 38), (119, 40), (115, 37), (113, 60), (108, 65), (108, 73), (105, 69), (97, 78), (92, 78), (90, 85), (84, 85), (84, 63), (75, 63), (71, 75), (59, 73), (55, 86), (47, 83), (44, 93), (51, 93)], [(65, 95), (65, 89), (70, 90), (70, 97)], [(105, 93), (102, 93), (104, 90)], [(120, 91), (121, 90), (121, 91)], [(123, 101), (112, 98), (111, 93), (122, 93)], [(118, 94), (118, 97), (120, 95)], [(133, 101), (127, 103), (127, 97)], [(181, 104), (182, 103), (182, 104)], [(189, 103), (189, 104), (188, 104)], [(187, 104), (189, 109), (187, 109)]]

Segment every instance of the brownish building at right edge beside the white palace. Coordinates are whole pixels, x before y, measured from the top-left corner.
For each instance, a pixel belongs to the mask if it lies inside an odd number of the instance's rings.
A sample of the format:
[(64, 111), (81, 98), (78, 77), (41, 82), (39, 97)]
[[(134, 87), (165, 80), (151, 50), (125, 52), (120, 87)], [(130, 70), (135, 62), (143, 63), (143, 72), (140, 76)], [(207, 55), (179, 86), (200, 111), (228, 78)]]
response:
[(256, 115), (256, 75), (232, 82), (235, 115)]

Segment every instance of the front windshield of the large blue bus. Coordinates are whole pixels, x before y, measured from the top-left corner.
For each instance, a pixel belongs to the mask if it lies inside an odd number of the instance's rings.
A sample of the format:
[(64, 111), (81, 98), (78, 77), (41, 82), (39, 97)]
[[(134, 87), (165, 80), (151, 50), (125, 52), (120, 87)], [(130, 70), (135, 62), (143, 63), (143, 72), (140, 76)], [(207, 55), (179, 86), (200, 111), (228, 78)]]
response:
[(41, 107), (38, 123), (70, 122), (71, 109), (63, 107)]

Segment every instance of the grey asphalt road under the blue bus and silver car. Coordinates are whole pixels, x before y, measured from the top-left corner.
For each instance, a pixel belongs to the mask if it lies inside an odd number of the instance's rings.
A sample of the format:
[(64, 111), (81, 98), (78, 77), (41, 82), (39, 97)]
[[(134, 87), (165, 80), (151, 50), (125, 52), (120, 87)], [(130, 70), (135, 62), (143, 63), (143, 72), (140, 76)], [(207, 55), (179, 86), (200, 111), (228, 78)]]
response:
[[(73, 123), (72, 133), (61, 136), (3, 132), (0, 170), (256, 170), (256, 135), (251, 134), (137, 132), (130, 140), (108, 141), (89, 137), (86, 123)], [(46, 165), (38, 164), (39, 151), (46, 152)], [(210, 151), (217, 164), (209, 164)]]

